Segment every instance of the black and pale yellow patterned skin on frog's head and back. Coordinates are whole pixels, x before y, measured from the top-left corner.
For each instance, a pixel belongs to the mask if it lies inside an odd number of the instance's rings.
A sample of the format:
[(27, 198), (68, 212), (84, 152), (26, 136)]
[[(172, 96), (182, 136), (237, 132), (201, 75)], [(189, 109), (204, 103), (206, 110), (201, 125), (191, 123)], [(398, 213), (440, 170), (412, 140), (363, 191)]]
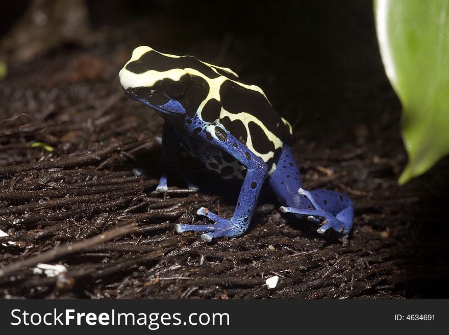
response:
[(208, 128), (221, 124), (267, 163), (270, 171), (276, 168), (282, 146), (292, 133), (291, 125), (276, 113), (260, 87), (240, 82), (229, 68), (192, 56), (162, 54), (140, 46), (120, 71), (120, 82), (125, 90), (148, 91), (159, 105), (170, 100), (160, 86), (190, 82), (190, 88), (176, 97), (187, 116), (196, 115)]

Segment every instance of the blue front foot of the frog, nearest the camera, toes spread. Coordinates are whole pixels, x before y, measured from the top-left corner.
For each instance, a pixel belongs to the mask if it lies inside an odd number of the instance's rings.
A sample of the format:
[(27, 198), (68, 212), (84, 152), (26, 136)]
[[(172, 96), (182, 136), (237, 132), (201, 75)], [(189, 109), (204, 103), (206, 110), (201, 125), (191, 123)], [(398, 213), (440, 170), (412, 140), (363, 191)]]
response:
[(201, 238), (207, 242), (218, 237), (237, 237), (244, 233), (244, 228), (239, 228), (232, 223), (232, 220), (224, 219), (216, 214), (209, 212), (207, 208), (200, 208), (196, 212), (197, 215), (203, 215), (215, 221), (214, 224), (177, 224), (175, 226), (177, 233), (184, 231), (207, 231), (201, 235)]

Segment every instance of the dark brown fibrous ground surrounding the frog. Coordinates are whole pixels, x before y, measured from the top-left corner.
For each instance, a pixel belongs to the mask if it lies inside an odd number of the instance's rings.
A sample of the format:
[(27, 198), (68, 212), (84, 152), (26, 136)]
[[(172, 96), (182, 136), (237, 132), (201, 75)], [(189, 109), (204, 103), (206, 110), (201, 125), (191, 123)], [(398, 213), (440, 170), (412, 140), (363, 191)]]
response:
[[(0, 229), (9, 234), (0, 237), (0, 297), (449, 297), (449, 161), (396, 184), (407, 162), (401, 106), (370, 2), (243, 2), (218, 17), (212, 5), (189, 16), (191, 5), (172, 12), (156, 2), (142, 16), (118, 1), (107, 13), (94, 3), (88, 46), (9, 60), (0, 81)], [(201, 206), (231, 216), (239, 185), (184, 155), (201, 190), (186, 192), (172, 176), (178, 191), (154, 193), (162, 120), (125, 97), (117, 76), (141, 44), (229, 66), (261, 86), (294, 124), (305, 188), (353, 198), (352, 234), (316, 234), (315, 225), (281, 214), (268, 187), (243, 237), (206, 243), (176, 234), (176, 223), (206, 223), (195, 215)], [(139, 167), (148, 172), (135, 176)], [(38, 263), (67, 272), (37, 274)], [(273, 275), (280, 280), (269, 290)]]

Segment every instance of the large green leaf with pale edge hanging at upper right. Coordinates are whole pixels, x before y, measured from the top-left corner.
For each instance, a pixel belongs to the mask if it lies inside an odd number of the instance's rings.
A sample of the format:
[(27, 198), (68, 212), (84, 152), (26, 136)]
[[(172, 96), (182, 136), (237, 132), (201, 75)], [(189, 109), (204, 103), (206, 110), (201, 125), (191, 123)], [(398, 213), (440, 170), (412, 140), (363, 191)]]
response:
[(449, 1), (375, 0), (387, 76), (402, 102), (407, 183), (449, 153)]

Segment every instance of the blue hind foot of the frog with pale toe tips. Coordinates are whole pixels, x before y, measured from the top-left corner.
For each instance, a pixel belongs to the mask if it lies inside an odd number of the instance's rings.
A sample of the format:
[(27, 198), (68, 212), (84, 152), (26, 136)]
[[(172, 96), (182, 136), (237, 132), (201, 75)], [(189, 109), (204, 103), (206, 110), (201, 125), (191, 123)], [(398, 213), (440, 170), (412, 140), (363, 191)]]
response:
[(298, 194), (304, 195), (315, 209), (297, 209), (293, 207), (281, 207), (281, 212), (294, 213), (304, 215), (309, 221), (320, 222), (321, 227), (318, 228), (319, 234), (325, 233), (329, 228), (334, 229), (338, 233), (348, 234), (352, 228), (352, 212), (353, 208), (347, 207), (339, 212), (336, 216), (323, 210), (313, 198), (312, 194), (302, 188), (298, 189)]

